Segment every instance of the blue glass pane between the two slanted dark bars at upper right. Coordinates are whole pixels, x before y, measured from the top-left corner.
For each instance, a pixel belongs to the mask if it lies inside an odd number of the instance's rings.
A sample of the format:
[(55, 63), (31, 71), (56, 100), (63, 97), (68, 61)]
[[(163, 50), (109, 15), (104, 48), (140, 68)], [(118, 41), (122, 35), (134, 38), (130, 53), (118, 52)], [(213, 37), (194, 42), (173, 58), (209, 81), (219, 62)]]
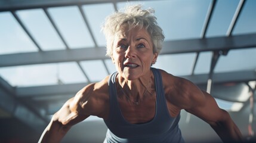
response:
[[(217, 1), (209, 23), (206, 37), (226, 36), (239, 0)], [(227, 10), (229, 5), (229, 10)]]

